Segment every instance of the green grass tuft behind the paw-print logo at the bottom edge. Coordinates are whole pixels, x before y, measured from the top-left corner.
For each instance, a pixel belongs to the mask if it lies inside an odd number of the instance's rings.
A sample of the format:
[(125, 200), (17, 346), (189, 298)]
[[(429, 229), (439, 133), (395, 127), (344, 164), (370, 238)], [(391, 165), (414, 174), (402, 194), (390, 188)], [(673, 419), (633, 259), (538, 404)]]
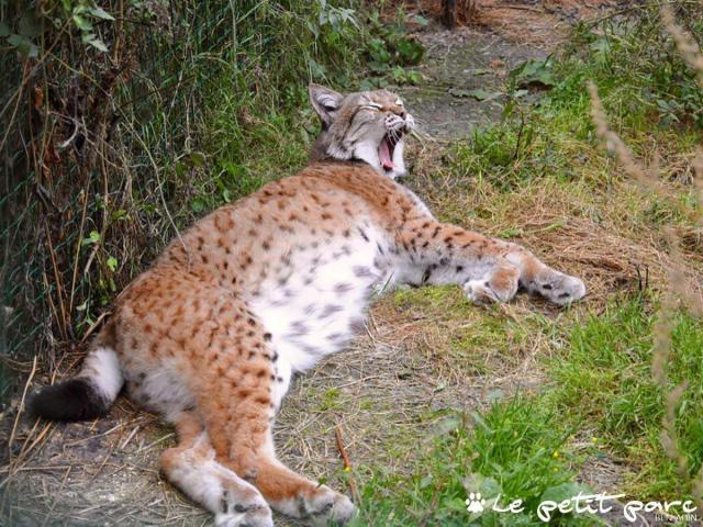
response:
[[(540, 500), (580, 490), (570, 484), (571, 455), (563, 449), (570, 430), (539, 399), (515, 396), (482, 415), (447, 417), (440, 428), (443, 435), (420, 444), (410, 474), (372, 473), (357, 525), (539, 525)], [(500, 496), (501, 507), (523, 500), (524, 512), (472, 515), (465, 503), (470, 492), (480, 492), (489, 505)], [(576, 522), (563, 517), (556, 525)]]

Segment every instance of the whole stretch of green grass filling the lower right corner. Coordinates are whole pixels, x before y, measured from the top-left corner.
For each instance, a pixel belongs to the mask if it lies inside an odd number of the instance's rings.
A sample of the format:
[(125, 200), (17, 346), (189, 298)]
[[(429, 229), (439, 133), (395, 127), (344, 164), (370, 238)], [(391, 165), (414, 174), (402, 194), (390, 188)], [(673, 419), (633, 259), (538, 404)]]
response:
[[(470, 416), (445, 417), (437, 425), (440, 436), (411, 444), (412, 468), (404, 475), (379, 467), (360, 471), (358, 525), (419, 525), (427, 518), (443, 526), (539, 525), (535, 512), (542, 501), (590, 492), (574, 483), (585, 457), (614, 457), (633, 471), (617, 489), (598, 491), (640, 501), (691, 497), (703, 460), (703, 324), (677, 316), (668, 365), (668, 390), (689, 382), (676, 412), (678, 448), (688, 462), (682, 478), (660, 441), (666, 392), (650, 372), (656, 315), (650, 302), (635, 298), (574, 321), (566, 346), (542, 361), (551, 381), (543, 391), (517, 392)], [(576, 451), (576, 437), (591, 445)], [(406, 455), (409, 446), (401, 447), (399, 456)], [(486, 498), (500, 494), (503, 506), (521, 498), (525, 511), (471, 516), (464, 501), (477, 491)], [(594, 522), (581, 515), (553, 520)]]

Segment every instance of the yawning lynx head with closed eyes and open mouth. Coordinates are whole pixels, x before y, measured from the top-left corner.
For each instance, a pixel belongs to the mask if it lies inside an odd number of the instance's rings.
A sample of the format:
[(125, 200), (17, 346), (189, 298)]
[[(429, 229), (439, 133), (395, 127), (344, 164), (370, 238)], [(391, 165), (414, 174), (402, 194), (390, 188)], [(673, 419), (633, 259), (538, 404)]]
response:
[(310, 102), (322, 120), (313, 161), (357, 159), (391, 179), (405, 173), (403, 135), (415, 122), (395, 93), (377, 90), (345, 96), (310, 85)]

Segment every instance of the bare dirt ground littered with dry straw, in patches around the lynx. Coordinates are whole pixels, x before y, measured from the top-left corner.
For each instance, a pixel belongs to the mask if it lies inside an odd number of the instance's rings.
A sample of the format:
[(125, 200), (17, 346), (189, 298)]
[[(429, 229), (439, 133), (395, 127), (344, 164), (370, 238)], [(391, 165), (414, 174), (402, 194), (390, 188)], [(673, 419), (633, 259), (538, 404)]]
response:
[[(458, 90), (495, 91), (517, 64), (546, 57), (584, 12), (593, 16), (602, 13), (603, 7), (616, 4), (506, 0), (496, 8), (498, 3), (488, 2), (487, 9), (479, 9), (478, 25), (451, 33), (432, 25), (419, 34), (426, 46), (420, 67), (424, 80), (399, 91), (425, 132), (440, 142), (466, 136), (476, 126), (500, 119), (496, 102), (460, 97)], [(585, 3), (588, 9), (580, 5)], [(532, 30), (526, 33), (527, 26)], [(514, 309), (528, 312), (535, 306), (522, 299)], [(471, 310), (467, 304), (467, 324), (472, 321)], [(389, 446), (421, 442), (419, 438), (427, 437), (427, 430), (440, 424), (435, 416), (443, 411), (481, 408), (498, 392), (539, 385), (540, 379), (531, 368), (529, 343), (515, 360), (490, 375), (457, 372), (434, 355), (433, 341), (442, 332), (436, 322), (412, 306), (388, 301), (376, 305), (367, 335), (295, 379), (276, 429), (281, 458), (304, 474), (348, 491), (335, 427), (341, 428), (354, 463), (373, 461), (402, 471), (408, 458), (399, 457)], [(110, 416), (99, 422), (33, 424), (18, 418), (19, 403), (1, 419), (0, 437), (8, 438), (11, 458), (0, 473), (0, 524), (211, 523), (209, 514), (159, 475), (158, 456), (174, 442), (174, 433), (157, 417), (121, 399)], [(605, 482), (607, 490), (625, 470), (606, 459), (587, 467), (591, 469), (582, 478), (595, 486)], [(279, 517), (277, 525), (295, 524)]]

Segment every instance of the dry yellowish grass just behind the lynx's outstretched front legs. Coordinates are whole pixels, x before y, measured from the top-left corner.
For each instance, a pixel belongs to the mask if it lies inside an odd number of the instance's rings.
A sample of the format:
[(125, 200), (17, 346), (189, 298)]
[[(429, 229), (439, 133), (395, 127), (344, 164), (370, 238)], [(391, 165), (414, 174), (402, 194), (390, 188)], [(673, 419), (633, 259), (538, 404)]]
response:
[[(489, 182), (466, 182), (444, 177), (436, 148), (419, 152), (421, 194), (445, 218), (464, 226), (523, 244), (557, 268), (582, 277), (589, 288), (588, 304), (602, 306), (623, 288), (661, 290), (672, 257), (667, 235), (651, 225), (634, 224), (632, 209), (647, 209), (656, 197), (638, 193), (631, 181), (615, 181), (604, 192), (574, 183), (568, 191), (555, 182), (538, 181), (504, 193)], [(426, 176), (423, 176), (426, 175)], [(681, 187), (661, 184), (660, 194), (674, 198)], [(468, 212), (473, 214), (469, 214)], [(695, 227), (685, 234), (684, 273), (692, 294), (703, 291), (703, 251)]]

